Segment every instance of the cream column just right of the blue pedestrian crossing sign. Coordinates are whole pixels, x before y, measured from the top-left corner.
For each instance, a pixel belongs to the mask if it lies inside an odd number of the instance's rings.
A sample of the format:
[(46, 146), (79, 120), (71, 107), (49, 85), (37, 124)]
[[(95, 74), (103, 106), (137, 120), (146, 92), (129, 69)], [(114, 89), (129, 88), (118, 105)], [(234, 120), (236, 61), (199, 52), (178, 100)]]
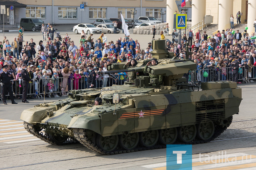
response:
[[(193, 0), (192, 1), (192, 21), (191, 26), (196, 25), (205, 17), (206, 0)], [(195, 30), (197, 32), (197, 30)]]

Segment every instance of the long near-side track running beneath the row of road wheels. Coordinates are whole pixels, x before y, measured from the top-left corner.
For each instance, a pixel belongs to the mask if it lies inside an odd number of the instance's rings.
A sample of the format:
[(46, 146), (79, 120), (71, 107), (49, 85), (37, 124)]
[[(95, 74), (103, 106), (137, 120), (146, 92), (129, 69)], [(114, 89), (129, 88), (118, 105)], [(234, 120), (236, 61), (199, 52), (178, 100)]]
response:
[[(206, 143), (206, 142), (210, 142), (212, 140), (214, 140), (215, 138), (217, 138), (221, 133), (223, 133), (232, 123), (232, 116), (230, 117), (229, 122), (224, 126), (216, 126), (215, 127), (215, 132), (214, 135), (208, 139), (208, 140), (199, 140), (197, 138), (195, 138), (192, 142), (189, 143), (183, 143), (180, 142), (178, 139), (175, 141), (174, 144), (198, 144), (198, 143)], [(156, 145), (154, 145), (154, 147), (151, 148), (147, 148), (147, 147), (142, 147), (140, 146), (140, 144), (137, 145), (137, 147), (133, 150), (124, 150), (121, 147), (117, 147), (115, 151), (113, 152), (105, 152), (102, 149), (98, 148), (97, 145), (92, 142), (91, 140), (88, 140), (88, 138), (86, 137), (86, 133), (85, 133), (86, 129), (73, 129), (73, 133), (75, 138), (82, 143), (85, 147), (87, 147), (88, 149), (94, 151), (94, 152), (98, 152), (101, 154), (105, 154), (105, 155), (112, 155), (112, 154), (119, 154), (119, 153), (129, 153), (129, 152), (136, 152), (136, 151), (144, 151), (144, 150), (151, 150), (151, 149), (163, 149), (166, 148), (166, 145), (161, 145), (159, 143), (156, 143)]]

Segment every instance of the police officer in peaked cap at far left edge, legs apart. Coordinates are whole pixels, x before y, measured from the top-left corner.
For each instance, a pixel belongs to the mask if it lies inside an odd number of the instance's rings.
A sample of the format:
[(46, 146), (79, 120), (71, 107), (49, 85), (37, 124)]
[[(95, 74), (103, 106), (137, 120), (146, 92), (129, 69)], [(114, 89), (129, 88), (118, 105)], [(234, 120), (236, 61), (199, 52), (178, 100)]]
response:
[(14, 101), (14, 98), (13, 98), (13, 91), (12, 91), (12, 86), (11, 86), (11, 82), (10, 82), (10, 80), (12, 78), (12, 74), (10, 74), (7, 71), (7, 67), (8, 67), (7, 65), (4, 65), (2, 67), (3, 72), (0, 74), (0, 82), (1, 82), (1, 84), (3, 84), (3, 102), (4, 102), (4, 104), (7, 104), (5, 95), (8, 90), (12, 104), (18, 104)]

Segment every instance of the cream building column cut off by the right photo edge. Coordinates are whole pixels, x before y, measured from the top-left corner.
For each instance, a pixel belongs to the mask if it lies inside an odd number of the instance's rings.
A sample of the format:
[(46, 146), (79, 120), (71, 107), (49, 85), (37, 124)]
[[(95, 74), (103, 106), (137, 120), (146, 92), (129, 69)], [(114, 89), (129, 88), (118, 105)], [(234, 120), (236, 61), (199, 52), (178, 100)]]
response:
[(248, 0), (248, 17), (247, 17), (247, 32), (249, 35), (251, 35), (252, 32), (255, 32), (255, 29), (253, 27), (253, 22), (256, 18), (256, 1), (255, 0)]

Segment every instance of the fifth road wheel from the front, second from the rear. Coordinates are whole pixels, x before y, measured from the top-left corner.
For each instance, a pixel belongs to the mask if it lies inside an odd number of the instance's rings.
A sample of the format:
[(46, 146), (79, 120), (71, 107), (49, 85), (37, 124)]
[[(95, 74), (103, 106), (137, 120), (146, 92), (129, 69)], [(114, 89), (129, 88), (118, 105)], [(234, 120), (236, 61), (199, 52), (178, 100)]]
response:
[(188, 125), (178, 128), (178, 139), (182, 142), (189, 143), (196, 137), (196, 126)]

